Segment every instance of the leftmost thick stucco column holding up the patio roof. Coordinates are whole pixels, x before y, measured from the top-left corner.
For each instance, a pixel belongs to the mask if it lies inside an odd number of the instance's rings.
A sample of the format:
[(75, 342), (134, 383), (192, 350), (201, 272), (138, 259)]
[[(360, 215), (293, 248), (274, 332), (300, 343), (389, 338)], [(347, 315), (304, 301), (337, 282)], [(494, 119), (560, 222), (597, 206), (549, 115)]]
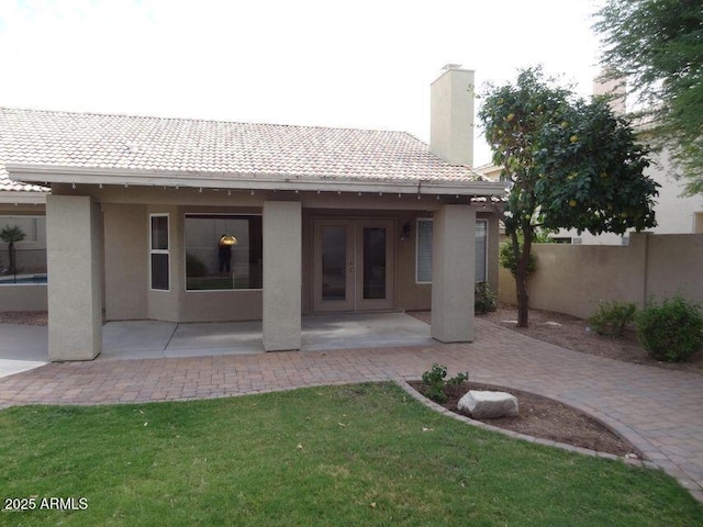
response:
[(90, 197), (46, 198), (51, 360), (90, 360), (102, 350), (101, 243)]

